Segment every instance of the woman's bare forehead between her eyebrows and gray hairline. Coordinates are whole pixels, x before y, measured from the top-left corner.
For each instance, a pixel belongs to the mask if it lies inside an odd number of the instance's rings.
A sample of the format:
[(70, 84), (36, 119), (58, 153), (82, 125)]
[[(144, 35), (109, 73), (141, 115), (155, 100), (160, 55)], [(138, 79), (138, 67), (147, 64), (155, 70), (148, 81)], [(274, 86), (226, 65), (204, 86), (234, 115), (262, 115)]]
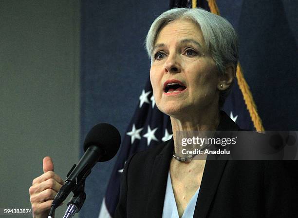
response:
[(155, 44), (170, 43), (172, 40), (191, 39), (205, 45), (200, 26), (191, 20), (174, 20), (165, 25), (157, 35)]

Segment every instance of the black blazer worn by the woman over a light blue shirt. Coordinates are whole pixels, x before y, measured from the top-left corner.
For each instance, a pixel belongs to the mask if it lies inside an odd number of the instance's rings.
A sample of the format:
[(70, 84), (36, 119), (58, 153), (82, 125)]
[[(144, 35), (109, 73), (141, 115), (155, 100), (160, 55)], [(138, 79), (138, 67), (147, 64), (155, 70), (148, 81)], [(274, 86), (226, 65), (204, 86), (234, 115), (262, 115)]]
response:
[[(221, 112), (217, 130), (239, 130)], [(161, 218), (173, 140), (138, 152), (121, 178), (115, 218)], [(298, 161), (206, 160), (194, 218), (298, 218)]]

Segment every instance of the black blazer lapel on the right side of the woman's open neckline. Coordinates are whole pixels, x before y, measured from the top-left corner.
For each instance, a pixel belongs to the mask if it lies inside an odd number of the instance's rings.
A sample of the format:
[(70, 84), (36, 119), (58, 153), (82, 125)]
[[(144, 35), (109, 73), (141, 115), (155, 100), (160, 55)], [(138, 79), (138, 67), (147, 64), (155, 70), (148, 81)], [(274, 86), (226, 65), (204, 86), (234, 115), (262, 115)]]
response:
[[(217, 131), (237, 131), (239, 126), (230, 119), (225, 112), (220, 111), (220, 123)], [(198, 195), (194, 218), (206, 218), (211, 202), (217, 191), (219, 182), (222, 178), (223, 171), (227, 160), (206, 160), (200, 192)]]

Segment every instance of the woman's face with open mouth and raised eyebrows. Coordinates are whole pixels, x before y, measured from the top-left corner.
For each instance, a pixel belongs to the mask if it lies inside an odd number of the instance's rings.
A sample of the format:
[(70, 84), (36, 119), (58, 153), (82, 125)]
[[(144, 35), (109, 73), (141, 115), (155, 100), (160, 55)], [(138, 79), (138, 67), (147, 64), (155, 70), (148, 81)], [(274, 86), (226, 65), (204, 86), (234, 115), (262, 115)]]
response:
[(150, 80), (159, 110), (179, 118), (218, 108), (219, 77), (200, 27), (189, 20), (168, 23), (152, 55)]

